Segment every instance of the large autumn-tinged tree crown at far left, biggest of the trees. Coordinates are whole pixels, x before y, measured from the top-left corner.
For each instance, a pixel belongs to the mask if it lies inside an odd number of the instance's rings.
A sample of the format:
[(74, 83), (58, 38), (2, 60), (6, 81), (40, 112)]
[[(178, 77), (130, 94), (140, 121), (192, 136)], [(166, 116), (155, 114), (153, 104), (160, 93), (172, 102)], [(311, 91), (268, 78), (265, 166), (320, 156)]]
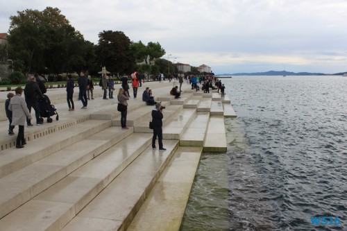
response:
[(58, 8), (18, 11), (10, 20), (10, 55), (22, 60), (24, 73), (85, 69), (90, 44)]

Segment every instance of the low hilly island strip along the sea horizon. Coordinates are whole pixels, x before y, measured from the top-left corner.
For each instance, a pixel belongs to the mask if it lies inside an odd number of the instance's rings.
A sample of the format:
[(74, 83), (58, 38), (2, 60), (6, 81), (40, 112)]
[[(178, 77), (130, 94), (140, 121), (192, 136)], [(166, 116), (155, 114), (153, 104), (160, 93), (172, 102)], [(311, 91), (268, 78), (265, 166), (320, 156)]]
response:
[(216, 76), (342, 76), (346, 72), (336, 74), (310, 73), (310, 72), (289, 72), (289, 71), (266, 71), (255, 73), (234, 73), (234, 74), (217, 74)]

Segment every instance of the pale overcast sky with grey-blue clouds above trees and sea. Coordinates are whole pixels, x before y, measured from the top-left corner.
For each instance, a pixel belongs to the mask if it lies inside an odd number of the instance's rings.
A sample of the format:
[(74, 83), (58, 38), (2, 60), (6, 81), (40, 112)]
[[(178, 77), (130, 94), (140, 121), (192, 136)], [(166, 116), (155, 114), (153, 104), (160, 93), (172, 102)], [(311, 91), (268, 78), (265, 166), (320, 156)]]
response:
[(123, 31), (215, 74), (347, 71), (346, 0), (0, 0), (0, 33), (17, 10), (46, 6), (94, 44), (101, 31)]

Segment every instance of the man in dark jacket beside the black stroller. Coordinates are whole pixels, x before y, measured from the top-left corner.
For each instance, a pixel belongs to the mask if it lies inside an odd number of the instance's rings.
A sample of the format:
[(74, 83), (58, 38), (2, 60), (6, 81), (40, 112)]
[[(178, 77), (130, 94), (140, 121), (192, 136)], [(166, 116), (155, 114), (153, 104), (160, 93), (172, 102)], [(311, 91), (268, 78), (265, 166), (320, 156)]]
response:
[[(42, 92), (40, 91), (39, 86), (36, 84), (36, 78), (31, 77), (31, 80), (26, 83), (24, 88), (24, 96), (25, 96), (25, 102), (26, 106), (28, 107), (29, 112), (31, 112), (31, 108), (35, 110), (35, 117), (36, 117), (36, 125), (41, 125), (43, 121), (40, 120), (40, 110), (39, 105), (37, 103), (37, 99), (44, 98)], [(26, 123), (28, 126), (33, 126), (31, 123), (31, 120), (26, 118)]]

